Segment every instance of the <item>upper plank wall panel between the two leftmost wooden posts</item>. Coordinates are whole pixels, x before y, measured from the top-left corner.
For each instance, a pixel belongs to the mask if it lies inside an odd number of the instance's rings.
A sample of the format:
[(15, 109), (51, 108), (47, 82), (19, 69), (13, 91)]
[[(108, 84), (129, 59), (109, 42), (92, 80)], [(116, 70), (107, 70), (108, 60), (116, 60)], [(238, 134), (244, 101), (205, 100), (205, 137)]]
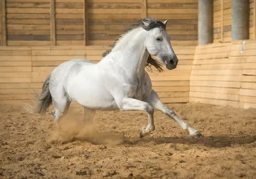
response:
[(49, 0), (6, 0), (7, 45), (51, 45)]

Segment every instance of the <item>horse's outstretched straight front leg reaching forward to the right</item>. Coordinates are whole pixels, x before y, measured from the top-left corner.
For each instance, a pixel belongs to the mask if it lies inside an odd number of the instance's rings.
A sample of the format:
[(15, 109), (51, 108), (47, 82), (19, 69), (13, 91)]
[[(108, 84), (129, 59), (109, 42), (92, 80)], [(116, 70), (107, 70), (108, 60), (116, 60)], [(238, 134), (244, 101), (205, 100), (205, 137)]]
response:
[(190, 127), (188, 123), (185, 123), (182, 119), (180, 119), (179, 116), (177, 116), (172, 111), (172, 109), (164, 105), (163, 102), (161, 102), (161, 100), (159, 99), (156, 91), (152, 90), (152, 92), (150, 93), (150, 96), (147, 97), (145, 101), (148, 102), (150, 105), (152, 105), (152, 107), (154, 107), (155, 109), (158, 109), (159, 111), (162, 111), (164, 114), (166, 114), (170, 118), (173, 118), (173, 120), (175, 120), (180, 125), (180, 127), (182, 127), (184, 130), (188, 130), (190, 137), (198, 138), (203, 136), (195, 128)]

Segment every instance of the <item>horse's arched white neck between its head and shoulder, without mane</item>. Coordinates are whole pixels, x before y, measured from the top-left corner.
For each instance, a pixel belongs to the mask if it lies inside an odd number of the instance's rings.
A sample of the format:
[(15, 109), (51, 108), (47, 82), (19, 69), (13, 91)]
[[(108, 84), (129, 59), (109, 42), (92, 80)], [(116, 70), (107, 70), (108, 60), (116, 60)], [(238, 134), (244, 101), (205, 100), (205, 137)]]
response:
[(116, 43), (112, 55), (116, 65), (121, 66), (125, 74), (140, 77), (145, 73), (145, 64), (149, 55), (145, 51), (146, 37), (147, 31), (139, 27), (127, 33), (120, 42)]

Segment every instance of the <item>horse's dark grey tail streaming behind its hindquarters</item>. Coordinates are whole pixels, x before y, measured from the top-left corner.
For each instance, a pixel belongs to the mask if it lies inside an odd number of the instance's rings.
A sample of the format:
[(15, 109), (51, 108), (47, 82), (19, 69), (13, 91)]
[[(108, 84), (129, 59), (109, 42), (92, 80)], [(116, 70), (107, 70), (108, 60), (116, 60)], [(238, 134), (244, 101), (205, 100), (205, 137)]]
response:
[(45, 79), (44, 85), (42, 87), (42, 93), (40, 95), (35, 93), (36, 105), (26, 104), (26, 109), (29, 112), (45, 114), (49, 105), (52, 104), (52, 96), (49, 89), (50, 79), (51, 79), (51, 74)]

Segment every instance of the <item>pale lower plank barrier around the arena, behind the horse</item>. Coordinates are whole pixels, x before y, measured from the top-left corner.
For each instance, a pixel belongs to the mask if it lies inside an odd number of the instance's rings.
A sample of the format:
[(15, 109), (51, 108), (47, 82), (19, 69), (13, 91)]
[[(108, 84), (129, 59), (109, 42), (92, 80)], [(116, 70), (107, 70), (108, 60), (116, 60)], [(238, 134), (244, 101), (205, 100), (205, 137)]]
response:
[[(149, 72), (153, 88), (166, 103), (201, 102), (256, 107), (256, 41), (174, 46), (175, 70)], [(0, 47), (0, 100), (30, 100), (45, 77), (63, 61), (86, 58), (96, 63), (104, 46)]]

